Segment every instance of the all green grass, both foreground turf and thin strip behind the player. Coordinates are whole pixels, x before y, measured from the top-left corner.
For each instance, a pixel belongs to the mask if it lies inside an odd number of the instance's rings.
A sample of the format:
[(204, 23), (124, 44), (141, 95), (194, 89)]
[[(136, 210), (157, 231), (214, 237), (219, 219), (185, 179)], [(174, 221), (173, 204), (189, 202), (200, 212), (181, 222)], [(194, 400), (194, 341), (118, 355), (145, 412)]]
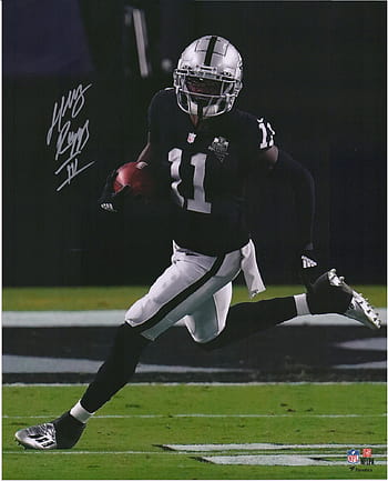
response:
[[(386, 305), (385, 287), (355, 288), (376, 307)], [(6, 288), (2, 309), (125, 309), (146, 290)], [(255, 299), (303, 291), (300, 285), (268, 287)], [(247, 300), (246, 289), (236, 285), (233, 303)], [(18, 429), (55, 418), (83, 390), (82, 385), (3, 387), (2, 479), (386, 479), (386, 449), (377, 447), (386, 444), (384, 383), (130, 384), (90, 421), (72, 450), (25, 451), (16, 443)], [(246, 443), (278, 444), (251, 449)], [(162, 444), (185, 447), (166, 451)], [(204, 451), (194, 444), (238, 445)], [(353, 448), (372, 448), (376, 464), (351, 470), (346, 454)], [(237, 462), (247, 462), (246, 455), (265, 458), (261, 458), (263, 465), (215, 463), (217, 457), (225, 462), (227, 455)], [(274, 465), (279, 455), (288, 464), (303, 457), (326, 465)]]

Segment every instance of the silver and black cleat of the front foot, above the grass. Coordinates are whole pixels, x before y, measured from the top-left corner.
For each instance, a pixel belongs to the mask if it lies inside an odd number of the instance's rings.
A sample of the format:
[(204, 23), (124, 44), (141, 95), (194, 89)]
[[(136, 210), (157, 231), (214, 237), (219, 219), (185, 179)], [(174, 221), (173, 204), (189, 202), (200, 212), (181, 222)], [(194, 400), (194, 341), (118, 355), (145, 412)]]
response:
[(51, 422), (21, 429), (14, 437), (25, 449), (70, 449), (81, 438), (85, 427), (86, 424), (65, 412)]

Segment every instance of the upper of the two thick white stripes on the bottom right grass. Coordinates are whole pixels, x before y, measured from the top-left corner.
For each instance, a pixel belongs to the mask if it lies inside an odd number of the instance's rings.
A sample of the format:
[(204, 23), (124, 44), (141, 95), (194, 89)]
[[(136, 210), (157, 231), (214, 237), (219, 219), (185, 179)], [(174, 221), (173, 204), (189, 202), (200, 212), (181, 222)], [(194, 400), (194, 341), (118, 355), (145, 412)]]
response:
[[(161, 448), (170, 451), (184, 452), (214, 452), (214, 451), (277, 451), (277, 450), (305, 450), (305, 449), (350, 449), (358, 448), (387, 448), (387, 444), (277, 444), (268, 442), (228, 443), (228, 444), (161, 444)], [(310, 455), (310, 454), (309, 454)], [(340, 455), (340, 454), (338, 454)]]

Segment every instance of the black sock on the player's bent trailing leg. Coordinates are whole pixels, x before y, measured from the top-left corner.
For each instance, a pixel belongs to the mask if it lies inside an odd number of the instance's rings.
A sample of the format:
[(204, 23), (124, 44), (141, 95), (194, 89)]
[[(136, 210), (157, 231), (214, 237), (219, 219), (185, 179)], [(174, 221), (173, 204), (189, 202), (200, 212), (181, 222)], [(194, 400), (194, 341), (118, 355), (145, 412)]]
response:
[(297, 315), (294, 297), (275, 298), (232, 305), (222, 333), (210, 342), (198, 344), (206, 350), (218, 349), (234, 341), (288, 321)]

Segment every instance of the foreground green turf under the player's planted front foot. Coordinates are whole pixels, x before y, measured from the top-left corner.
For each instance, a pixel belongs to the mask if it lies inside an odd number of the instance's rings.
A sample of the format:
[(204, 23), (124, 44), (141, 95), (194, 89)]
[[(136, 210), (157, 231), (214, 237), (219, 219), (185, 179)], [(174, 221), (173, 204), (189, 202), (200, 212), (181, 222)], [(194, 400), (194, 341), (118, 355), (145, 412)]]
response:
[[(72, 450), (24, 451), (14, 443), (16, 430), (60, 414), (83, 390), (80, 385), (3, 388), (2, 479), (386, 479), (382, 464), (371, 467), (368, 472), (351, 471), (346, 448), (334, 451), (341, 465), (249, 467), (204, 463), (193, 454), (163, 451), (155, 445), (344, 443), (350, 449), (382, 444), (386, 442), (382, 383), (132, 384), (99, 411)], [(177, 417), (194, 413), (216, 415)], [(374, 454), (377, 453), (385, 450), (374, 449)]]

